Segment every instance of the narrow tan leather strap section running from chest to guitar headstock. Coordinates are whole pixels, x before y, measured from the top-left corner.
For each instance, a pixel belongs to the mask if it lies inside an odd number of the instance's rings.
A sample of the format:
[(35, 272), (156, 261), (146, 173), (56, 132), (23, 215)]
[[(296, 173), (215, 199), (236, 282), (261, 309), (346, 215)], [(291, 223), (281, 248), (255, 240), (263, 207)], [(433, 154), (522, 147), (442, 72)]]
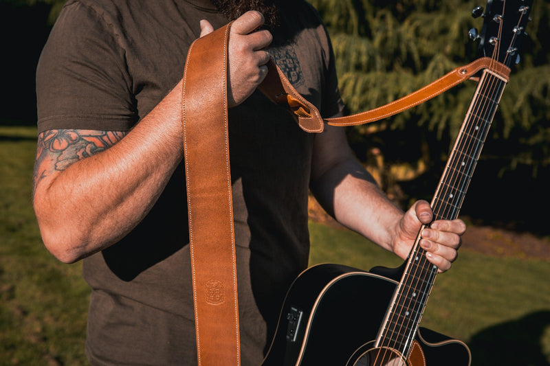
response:
[(510, 75), (510, 69), (502, 63), (489, 57), (478, 58), (469, 65), (457, 67), (445, 76), (426, 85), (426, 87), (384, 106), (355, 115), (323, 119), (317, 108), (307, 102), (292, 87), (292, 84), (285, 78), (281, 69), (274, 62), (270, 61), (267, 66), (270, 72), (259, 89), (273, 102), (289, 108), (296, 115), (300, 127), (308, 132), (322, 132), (325, 123), (331, 126), (355, 126), (379, 121), (434, 98), (443, 91), (471, 78), (482, 69), (489, 69), (498, 76), (505, 78), (505, 80), (508, 80)]

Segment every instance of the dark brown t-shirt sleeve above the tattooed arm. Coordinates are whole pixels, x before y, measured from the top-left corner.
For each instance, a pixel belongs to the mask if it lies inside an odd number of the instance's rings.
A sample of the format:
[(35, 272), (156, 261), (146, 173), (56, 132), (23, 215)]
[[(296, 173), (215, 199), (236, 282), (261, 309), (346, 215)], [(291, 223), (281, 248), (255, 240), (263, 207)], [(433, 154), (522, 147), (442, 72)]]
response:
[(39, 133), (58, 128), (129, 130), (131, 77), (117, 30), (98, 10), (65, 5), (36, 70)]

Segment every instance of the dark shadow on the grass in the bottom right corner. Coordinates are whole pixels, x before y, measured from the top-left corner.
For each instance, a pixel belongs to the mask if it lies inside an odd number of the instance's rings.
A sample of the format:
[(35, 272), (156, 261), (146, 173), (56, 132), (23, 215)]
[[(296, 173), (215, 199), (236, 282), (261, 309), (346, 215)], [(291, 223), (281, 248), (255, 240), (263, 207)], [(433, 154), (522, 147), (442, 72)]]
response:
[(550, 310), (541, 310), (481, 330), (468, 342), (472, 366), (550, 366), (541, 349), (548, 327)]

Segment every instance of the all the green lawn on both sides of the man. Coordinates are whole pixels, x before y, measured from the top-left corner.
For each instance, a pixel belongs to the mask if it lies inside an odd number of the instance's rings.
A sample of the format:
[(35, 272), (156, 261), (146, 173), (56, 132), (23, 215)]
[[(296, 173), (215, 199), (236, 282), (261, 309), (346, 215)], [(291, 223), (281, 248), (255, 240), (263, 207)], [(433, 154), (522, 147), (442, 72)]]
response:
[[(0, 365), (86, 365), (89, 289), (80, 264), (41, 243), (32, 212), (36, 129), (0, 126)], [(311, 223), (311, 264), (401, 261), (355, 233)], [(472, 365), (550, 365), (550, 263), (461, 250), (422, 325), (470, 345)]]

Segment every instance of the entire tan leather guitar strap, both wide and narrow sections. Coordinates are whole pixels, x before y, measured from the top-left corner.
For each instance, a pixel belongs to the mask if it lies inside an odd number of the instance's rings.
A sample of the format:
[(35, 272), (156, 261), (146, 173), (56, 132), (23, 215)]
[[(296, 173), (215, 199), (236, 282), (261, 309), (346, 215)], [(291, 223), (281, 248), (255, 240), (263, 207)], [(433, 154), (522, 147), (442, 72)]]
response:
[[(197, 357), (199, 365), (239, 365), (239, 312), (236, 292), (228, 141), (227, 65), (230, 24), (190, 46), (183, 86), (182, 122), (189, 215)], [(352, 126), (395, 115), (491, 69), (508, 78), (509, 69), (489, 58), (454, 69), (426, 87), (372, 111), (323, 119), (273, 61), (259, 89), (294, 113), (307, 132), (325, 123)]]

